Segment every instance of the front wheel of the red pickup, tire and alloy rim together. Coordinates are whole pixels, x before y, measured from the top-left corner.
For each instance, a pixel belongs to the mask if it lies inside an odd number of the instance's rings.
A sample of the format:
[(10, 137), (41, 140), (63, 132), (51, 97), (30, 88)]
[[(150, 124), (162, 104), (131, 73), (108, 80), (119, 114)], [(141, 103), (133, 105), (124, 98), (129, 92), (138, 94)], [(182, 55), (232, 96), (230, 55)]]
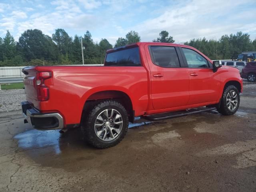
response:
[(220, 106), (217, 107), (219, 113), (223, 115), (233, 115), (239, 108), (240, 95), (238, 89), (234, 85), (227, 86), (224, 89)]

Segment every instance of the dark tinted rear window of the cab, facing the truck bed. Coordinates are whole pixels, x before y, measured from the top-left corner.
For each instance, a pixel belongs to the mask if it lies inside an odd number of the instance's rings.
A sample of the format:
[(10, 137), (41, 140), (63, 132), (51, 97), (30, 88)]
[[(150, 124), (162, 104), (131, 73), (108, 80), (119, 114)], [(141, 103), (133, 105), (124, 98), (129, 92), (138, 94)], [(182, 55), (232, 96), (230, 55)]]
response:
[(105, 66), (141, 66), (139, 48), (129, 48), (107, 53)]

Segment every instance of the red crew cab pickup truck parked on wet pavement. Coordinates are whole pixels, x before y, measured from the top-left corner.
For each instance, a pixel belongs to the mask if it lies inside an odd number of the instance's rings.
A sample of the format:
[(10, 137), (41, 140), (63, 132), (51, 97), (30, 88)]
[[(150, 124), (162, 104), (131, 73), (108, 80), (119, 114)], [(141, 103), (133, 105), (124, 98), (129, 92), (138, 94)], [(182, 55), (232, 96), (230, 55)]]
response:
[(238, 69), (168, 43), (107, 50), (104, 66), (33, 66), (22, 72), (24, 122), (39, 130), (79, 126), (97, 148), (118, 144), (137, 116), (161, 119), (160, 113), (202, 106), (232, 115), (243, 89)]

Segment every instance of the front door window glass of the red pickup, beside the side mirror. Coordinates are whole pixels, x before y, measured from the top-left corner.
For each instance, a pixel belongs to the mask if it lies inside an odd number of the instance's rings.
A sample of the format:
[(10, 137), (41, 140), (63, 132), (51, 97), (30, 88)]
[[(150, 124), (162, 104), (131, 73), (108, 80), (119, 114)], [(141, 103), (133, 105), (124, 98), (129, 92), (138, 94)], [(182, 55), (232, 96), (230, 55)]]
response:
[(182, 48), (190, 68), (208, 68), (207, 60), (194, 50)]

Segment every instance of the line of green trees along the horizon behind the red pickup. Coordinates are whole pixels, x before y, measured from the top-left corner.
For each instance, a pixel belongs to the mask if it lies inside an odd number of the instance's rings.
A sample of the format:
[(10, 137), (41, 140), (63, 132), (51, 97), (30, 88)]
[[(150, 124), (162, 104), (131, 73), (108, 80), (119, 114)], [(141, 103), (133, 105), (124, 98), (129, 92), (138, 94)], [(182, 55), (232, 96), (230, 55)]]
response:
[[(81, 39), (85, 64), (103, 63), (106, 50), (113, 48), (105, 38), (94, 42), (89, 31), (84, 36), (75, 35), (73, 38), (64, 29), (56, 29), (51, 37), (38, 29), (29, 29), (16, 42), (7, 30), (6, 36), (0, 38), (0, 66), (82, 64)], [(152, 41), (175, 42), (167, 31), (161, 31)], [(116, 40), (114, 48), (135, 42), (140, 42), (140, 35), (130, 31), (125, 38)], [(256, 39), (252, 41), (249, 34), (242, 32), (223, 35), (219, 40), (192, 39), (184, 44), (193, 46), (212, 60), (235, 59), (242, 51), (256, 50)]]

